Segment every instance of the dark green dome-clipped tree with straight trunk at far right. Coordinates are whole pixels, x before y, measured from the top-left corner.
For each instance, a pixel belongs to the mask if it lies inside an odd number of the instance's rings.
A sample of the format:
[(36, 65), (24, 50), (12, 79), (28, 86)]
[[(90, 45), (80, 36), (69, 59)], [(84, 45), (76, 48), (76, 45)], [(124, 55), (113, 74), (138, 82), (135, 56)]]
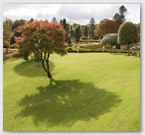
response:
[(130, 44), (137, 43), (138, 31), (132, 22), (124, 22), (118, 31), (118, 42), (127, 45), (128, 56), (130, 56)]

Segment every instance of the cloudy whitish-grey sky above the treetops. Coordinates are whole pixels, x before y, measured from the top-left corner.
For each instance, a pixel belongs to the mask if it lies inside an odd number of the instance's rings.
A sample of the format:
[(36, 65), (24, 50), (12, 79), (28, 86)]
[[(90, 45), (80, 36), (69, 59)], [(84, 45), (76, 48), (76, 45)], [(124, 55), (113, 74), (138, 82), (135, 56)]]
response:
[(93, 17), (98, 24), (102, 19), (112, 19), (122, 5), (127, 8), (126, 21), (139, 23), (140, 4), (4, 4), (3, 19), (52, 21), (56, 17), (58, 22), (65, 18), (70, 24), (88, 24)]

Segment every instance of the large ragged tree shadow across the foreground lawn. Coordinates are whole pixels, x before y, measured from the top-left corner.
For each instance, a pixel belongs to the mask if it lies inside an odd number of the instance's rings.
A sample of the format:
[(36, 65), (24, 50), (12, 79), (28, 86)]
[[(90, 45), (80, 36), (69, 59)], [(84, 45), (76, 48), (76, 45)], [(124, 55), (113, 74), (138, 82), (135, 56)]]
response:
[(56, 81), (55, 85), (38, 87), (38, 94), (26, 95), (19, 102), (24, 108), (16, 117), (32, 116), (34, 124), (72, 126), (77, 121), (98, 119), (121, 99), (93, 83), (79, 80)]

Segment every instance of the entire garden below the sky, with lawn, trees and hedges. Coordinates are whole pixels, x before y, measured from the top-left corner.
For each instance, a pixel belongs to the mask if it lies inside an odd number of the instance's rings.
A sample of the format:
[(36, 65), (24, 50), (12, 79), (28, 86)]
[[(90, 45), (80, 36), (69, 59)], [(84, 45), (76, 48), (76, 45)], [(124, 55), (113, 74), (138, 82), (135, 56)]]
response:
[(140, 24), (126, 11), (86, 25), (6, 19), (4, 130), (139, 131)]

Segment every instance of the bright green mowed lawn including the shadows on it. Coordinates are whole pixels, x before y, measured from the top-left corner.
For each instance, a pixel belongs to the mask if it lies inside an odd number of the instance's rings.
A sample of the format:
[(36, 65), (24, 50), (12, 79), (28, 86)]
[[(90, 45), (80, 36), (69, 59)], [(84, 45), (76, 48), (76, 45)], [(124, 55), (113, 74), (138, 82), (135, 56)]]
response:
[(139, 131), (140, 59), (126, 54), (51, 55), (40, 65), (4, 62), (5, 131)]

